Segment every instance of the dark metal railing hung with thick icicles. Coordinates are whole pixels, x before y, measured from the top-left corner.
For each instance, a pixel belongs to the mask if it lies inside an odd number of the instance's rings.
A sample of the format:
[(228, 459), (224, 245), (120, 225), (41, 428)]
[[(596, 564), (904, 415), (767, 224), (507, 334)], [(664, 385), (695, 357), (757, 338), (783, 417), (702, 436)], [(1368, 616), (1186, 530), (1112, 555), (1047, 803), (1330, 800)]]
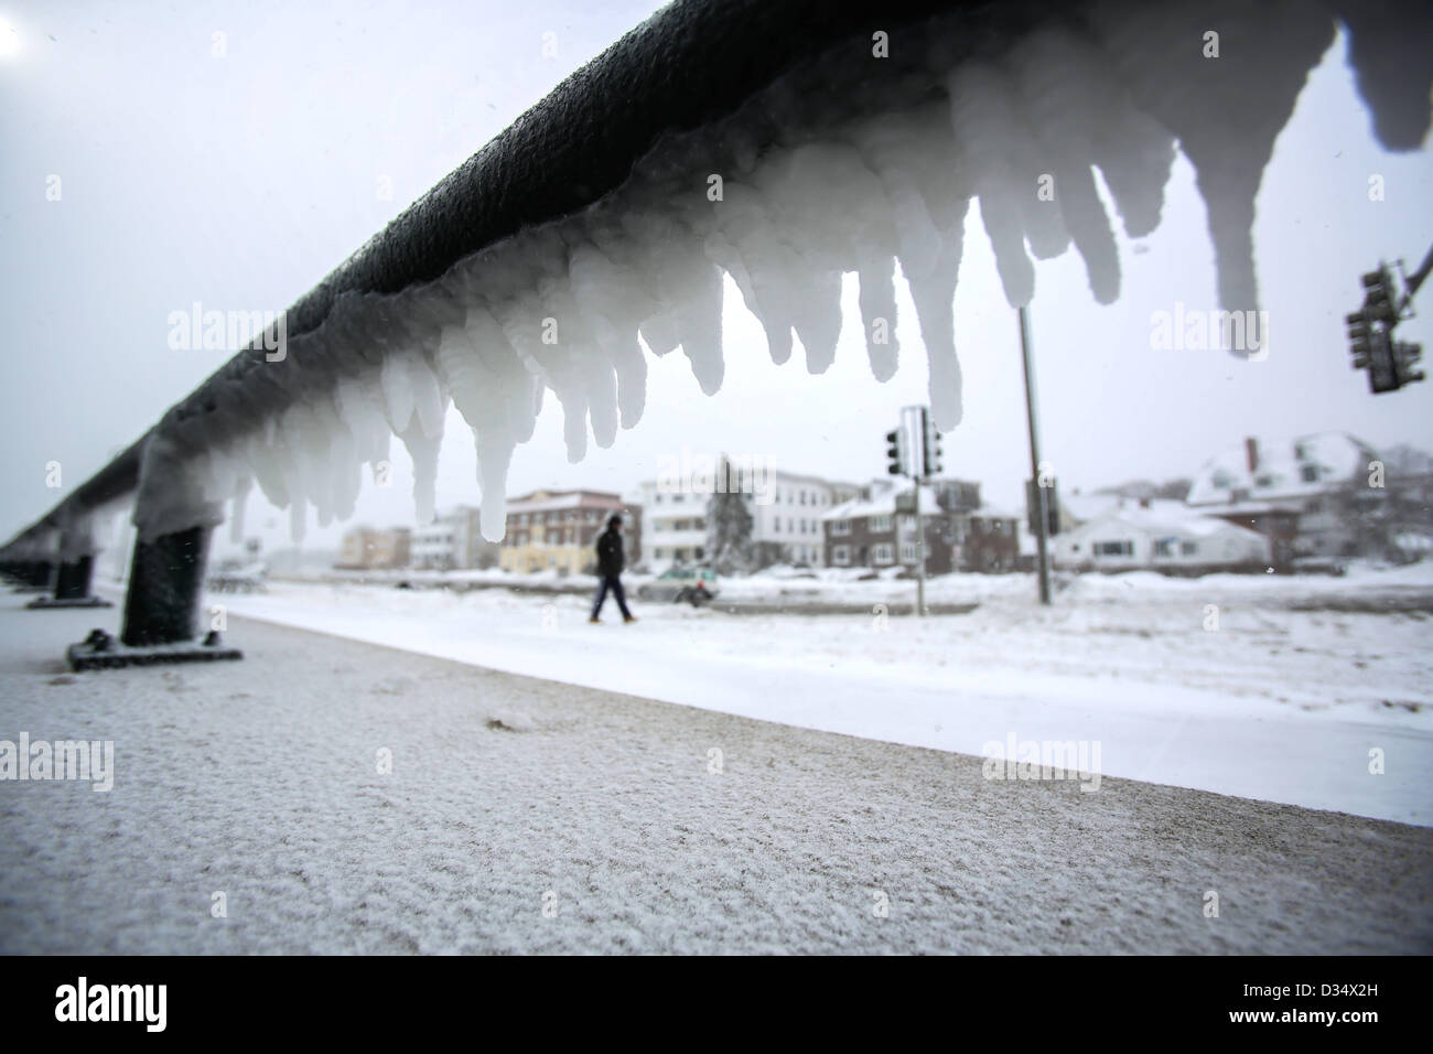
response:
[(133, 493), (123, 638), (183, 640), (193, 604), (176, 597), (198, 588), (226, 505), (238, 522), (257, 483), (295, 533), (310, 506), (342, 519), (396, 435), (427, 519), (450, 403), (496, 539), (512, 453), (549, 390), (577, 460), (589, 433), (608, 446), (642, 416), (648, 353), (681, 347), (702, 389), (721, 387), (724, 275), (771, 357), (798, 340), (820, 373), (841, 275), (857, 272), (870, 369), (887, 380), (898, 262), (933, 413), (953, 427), (972, 199), (1012, 305), (1035, 295), (1033, 261), (1072, 245), (1111, 303), (1119, 260), (1095, 171), (1139, 237), (1159, 222), (1176, 149), (1208, 205), (1221, 303), (1251, 310), (1255, 194), (1338, 23), (1379, 139), (1420, 146), (1433, 83), (1420, 0), (675, 3), (304, 295), (282, 357), (235, 356), (0, 555), (14, 568), (87, 552), (96, 511)]

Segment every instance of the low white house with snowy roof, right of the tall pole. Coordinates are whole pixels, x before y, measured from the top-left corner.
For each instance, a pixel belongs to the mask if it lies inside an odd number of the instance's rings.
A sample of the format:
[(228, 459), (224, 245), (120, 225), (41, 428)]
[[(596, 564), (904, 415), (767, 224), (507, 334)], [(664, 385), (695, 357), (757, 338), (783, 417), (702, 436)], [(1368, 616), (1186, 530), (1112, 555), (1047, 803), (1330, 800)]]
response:
[(1262, 571), (1268, 536), (1182, 502), (1125, 500), (1050, 539), (1050, 561), (1078, 571), (1152, 569), (1197, 575)]

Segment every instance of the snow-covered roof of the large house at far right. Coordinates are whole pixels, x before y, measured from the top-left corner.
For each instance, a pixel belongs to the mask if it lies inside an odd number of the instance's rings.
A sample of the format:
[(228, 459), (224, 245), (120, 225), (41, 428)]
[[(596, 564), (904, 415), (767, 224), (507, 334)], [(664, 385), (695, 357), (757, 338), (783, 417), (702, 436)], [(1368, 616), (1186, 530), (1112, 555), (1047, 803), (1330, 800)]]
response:
[(1189, 488), (1189, 505), (1227, 505), (1237, 490), (1248, 499), (1307, 498), (1369, 470), (1373, 447), (1343, 432), (1294, 437), (1257, 437), (1257, 465), (1248, 466), (1245, 443), (1207, 460)]

